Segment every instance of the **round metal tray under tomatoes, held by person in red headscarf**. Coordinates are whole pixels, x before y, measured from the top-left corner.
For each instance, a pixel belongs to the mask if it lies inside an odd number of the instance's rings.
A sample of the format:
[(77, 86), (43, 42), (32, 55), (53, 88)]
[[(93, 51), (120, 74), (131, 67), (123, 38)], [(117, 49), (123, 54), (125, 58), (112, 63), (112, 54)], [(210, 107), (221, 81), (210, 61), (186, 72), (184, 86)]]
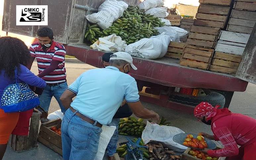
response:
[[(184, 140), (186, 139), (186, 136), (188, 135), (189, 133), (180, 133), (180, 134), (177, 134), (173, 137), (173, 141), (182, 145), (182, 146), (186, 146), (186, 145), (183, 145), (183, 142)], [(197, 135), (195, 134), (192, 134), (193, 137), (197, 137)], [(215, 145), (215, 143), (213, 143), (211, 140), (208, 140), (207, 138), (204, 138), (204, 140), (206, 141), (207, 143), (207, 148), (208, 149), (215, 149), (217, 146)], [(199, 150), (202, 150), (200, 148), (196, 148), (196, 147), (191, 147), (191, 146), (186, 146), (186, 147), (190, 147), (190, 148), (195, 148), (195, 149), (199, 149)]]

